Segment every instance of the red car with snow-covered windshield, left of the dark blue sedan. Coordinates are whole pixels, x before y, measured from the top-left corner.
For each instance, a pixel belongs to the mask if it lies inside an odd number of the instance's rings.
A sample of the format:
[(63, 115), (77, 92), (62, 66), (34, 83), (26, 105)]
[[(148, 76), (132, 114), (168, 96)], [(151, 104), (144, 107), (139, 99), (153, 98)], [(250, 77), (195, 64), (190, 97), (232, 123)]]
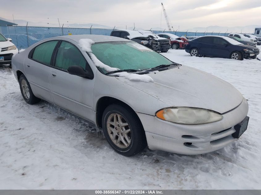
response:
[(157, 34), (159, 37), (163, 37), (166, 39), (170, 39), (170, 44), (172, 49), (185, 49), (185, 46), (188, 44), (188, 39), (184, 37), (179, 37), (177, 35), (173, 35), (171, 33), (159, 33)]

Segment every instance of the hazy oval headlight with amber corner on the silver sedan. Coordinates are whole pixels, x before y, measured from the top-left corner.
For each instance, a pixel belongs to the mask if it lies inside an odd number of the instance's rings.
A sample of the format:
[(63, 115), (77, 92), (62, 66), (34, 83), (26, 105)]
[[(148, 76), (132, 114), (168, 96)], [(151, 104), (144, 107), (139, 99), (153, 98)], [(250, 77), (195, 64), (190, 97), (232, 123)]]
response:
[(190, 107), (174, 107), (164, 108), (156, 113), (156, 116), (162, 120), (166, 120), (179, 124), (204, 124), (219, 121), (223, 118), (217, 112)]

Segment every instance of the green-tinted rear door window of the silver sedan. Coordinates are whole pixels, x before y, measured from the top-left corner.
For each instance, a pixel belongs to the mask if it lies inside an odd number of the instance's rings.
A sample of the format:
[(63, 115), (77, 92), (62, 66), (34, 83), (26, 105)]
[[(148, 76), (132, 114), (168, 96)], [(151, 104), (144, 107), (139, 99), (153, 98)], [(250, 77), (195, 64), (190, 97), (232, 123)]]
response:
[(54, 47), (58, 41), (48, 41), (38, 45), (33, 53), (33, 59), (38, 62), (50, 65)]

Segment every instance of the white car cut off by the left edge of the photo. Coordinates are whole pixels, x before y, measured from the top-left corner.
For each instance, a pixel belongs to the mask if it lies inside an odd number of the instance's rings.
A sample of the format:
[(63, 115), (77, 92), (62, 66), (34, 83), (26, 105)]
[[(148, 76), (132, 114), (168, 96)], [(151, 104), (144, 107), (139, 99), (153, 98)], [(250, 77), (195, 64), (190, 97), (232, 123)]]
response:
[(18, 49), (11, 41), (12, 39), (6, 39), (0, 33), (0, 64), (11, 65), (12, 56), (18, 52)]

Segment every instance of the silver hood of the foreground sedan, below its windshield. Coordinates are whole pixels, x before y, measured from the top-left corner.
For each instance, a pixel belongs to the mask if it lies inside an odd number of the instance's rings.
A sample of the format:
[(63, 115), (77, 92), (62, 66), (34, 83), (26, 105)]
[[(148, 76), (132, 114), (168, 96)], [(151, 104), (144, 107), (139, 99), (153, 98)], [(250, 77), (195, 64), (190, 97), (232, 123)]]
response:
[(166, 107), (205, 108), (224, 113), (243, 100), (242, 94), (230, 83), (192, 67), (181, 66), (147, 75), (154, 82), (116, 78), (154, 96), (166, 103)]

